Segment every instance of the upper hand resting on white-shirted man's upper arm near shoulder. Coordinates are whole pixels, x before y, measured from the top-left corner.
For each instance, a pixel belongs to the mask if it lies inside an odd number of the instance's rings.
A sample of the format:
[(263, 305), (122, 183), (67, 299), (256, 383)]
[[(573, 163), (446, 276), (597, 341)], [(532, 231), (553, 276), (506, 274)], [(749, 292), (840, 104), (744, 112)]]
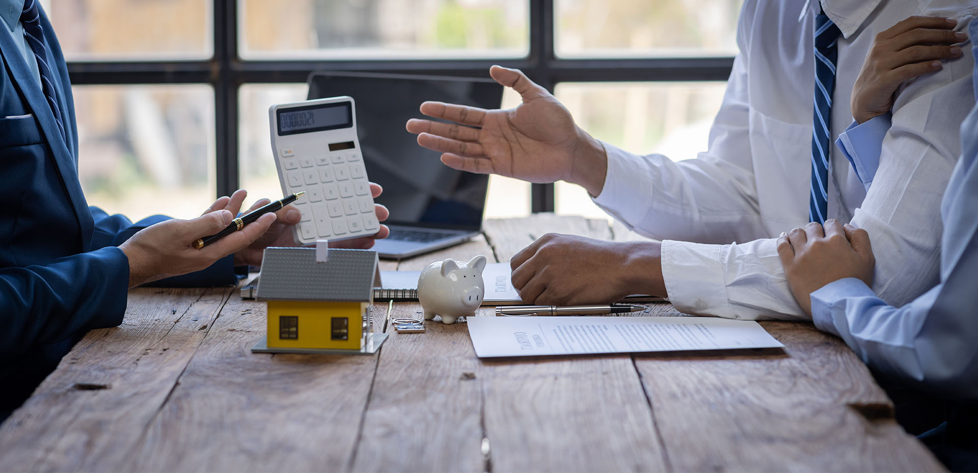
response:
[(940, 69), (941, 60), (959, 57), (961, 48), (954, 44), (967, 35), (955, 31), (956, 24), (943, 17), (911, 17), (877, 34), (853, 85), (853, 118), (863, 123), (890, 111), (901, 84)]

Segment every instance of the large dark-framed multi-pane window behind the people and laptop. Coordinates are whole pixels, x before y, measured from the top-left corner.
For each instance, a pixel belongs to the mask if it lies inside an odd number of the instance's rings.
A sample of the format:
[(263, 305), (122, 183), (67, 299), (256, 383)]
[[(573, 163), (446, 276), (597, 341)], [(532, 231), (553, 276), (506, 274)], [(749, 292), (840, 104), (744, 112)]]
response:
[[(601, 140), (694, 157), (733, 63), (739, 4), (42, 0), (75, 85), (85, 194), (134, 218), (194, 216), (239, 187), (249, 200), (281, 194), (267, 109), (304, 99), (306, 76), (322, 69), (518, 67)], [(518, 103), (508, 91), (504, 107)], [(531, 211), (603, 215), (566, 183), (490, 179), (487, 217)]]

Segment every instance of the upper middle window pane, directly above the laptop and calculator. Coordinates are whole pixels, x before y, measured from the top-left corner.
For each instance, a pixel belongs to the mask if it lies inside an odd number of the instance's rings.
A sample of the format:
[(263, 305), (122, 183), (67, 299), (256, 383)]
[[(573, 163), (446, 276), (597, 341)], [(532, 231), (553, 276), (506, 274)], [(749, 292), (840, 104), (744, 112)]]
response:
[[(525, 58), (525, 0), (244, 0), (242, 58)], [(286, 6), (287, 8), (283, 8)]]

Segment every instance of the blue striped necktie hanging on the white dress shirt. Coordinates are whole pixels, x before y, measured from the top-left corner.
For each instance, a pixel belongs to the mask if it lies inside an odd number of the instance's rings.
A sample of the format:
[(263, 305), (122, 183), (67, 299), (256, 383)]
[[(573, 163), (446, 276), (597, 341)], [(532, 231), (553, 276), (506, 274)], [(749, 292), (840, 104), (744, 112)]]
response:
[(812, 198), (810, 222), (824, 223), (828, 210), (828, 118), (835, 88), (836, 39), (842, 32), (824, 13), (815, 18), (815, 118), (812, 122)]

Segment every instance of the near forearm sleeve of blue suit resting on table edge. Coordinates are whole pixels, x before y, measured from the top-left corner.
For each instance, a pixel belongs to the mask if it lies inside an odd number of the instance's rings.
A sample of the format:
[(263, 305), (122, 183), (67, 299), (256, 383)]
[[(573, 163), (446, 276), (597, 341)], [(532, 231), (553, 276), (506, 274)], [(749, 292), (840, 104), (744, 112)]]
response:
[(129, 261), (115, 247), (0, 269), (0, 358), (122, 323), (128, 282)]

